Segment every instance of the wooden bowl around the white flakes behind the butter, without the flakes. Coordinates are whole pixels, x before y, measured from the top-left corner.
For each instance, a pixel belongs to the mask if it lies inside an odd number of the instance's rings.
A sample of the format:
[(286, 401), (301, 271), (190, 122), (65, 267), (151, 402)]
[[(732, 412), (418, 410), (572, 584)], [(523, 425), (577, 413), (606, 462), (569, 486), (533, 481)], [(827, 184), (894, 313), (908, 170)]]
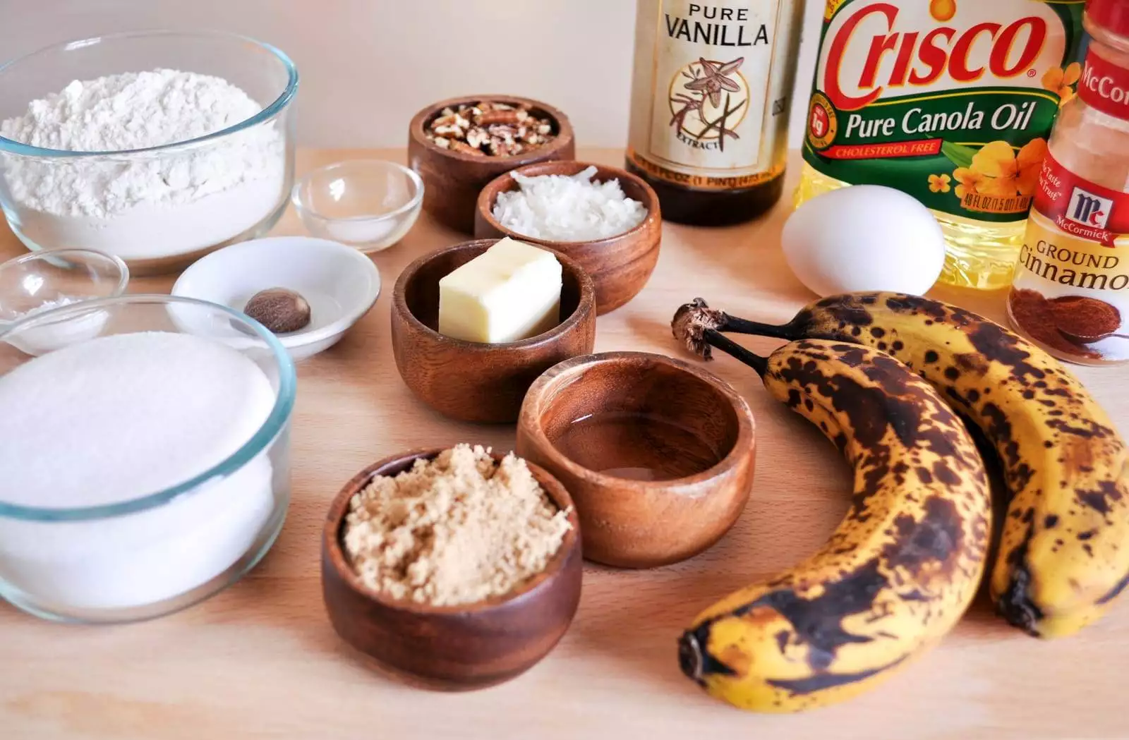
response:
[(576, 259), (592, 275), (596, 283), (596, 311), (606, 314), (623, 306), (644, 289), (658, 262), (658, 248), (663, 240), (663, 214), (658, 196), (650, 185), (623, 169), (604, 165), (577, 161), (551, 161), (528, 165), (516, 170), (528, 177), (539, 175), (576, 175), (587, 167), (595, 167), (594, 182), (620, 180), (623, 193), (639, 201), (647, 209), (642, 223), (614, 237), (593, 241), (549, 241), (533, 239), (507, 229), (493, 217), (493, 206), (499, 193), (518, 188), (514, 173), (500, 175), (487, 185), (479, 195), (475, 212), (474, 236), (513, 237), (528, 244), (544, 245)]

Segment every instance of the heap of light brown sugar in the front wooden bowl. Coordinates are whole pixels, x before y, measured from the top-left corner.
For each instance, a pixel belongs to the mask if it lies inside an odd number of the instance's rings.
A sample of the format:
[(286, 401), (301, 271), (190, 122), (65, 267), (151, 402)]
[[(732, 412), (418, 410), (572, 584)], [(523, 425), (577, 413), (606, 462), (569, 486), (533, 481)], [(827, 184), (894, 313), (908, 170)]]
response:
[(374, 478), (350, 502), (343, 541), (368, 588), (453, 606), (544, 571), (570, 528), (525, 460), (460, 444)]

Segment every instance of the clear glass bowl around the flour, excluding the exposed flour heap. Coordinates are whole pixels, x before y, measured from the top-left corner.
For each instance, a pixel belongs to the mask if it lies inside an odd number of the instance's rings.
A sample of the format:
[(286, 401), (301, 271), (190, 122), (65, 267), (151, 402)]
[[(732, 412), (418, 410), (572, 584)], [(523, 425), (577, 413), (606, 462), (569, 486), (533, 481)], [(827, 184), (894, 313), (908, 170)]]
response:
[(0, 206), (29, 249), (98, 249), (134, 275), (167, 273), (278, 221), (294, 180), (298, 72), (268, 44), (142, 32), (49, 46), (0, 67), (0, 121), (75, 80), (161, 68), (224, 78), (263, 109), (204, 136), (129, 151), (44, 149), (0, 135)]

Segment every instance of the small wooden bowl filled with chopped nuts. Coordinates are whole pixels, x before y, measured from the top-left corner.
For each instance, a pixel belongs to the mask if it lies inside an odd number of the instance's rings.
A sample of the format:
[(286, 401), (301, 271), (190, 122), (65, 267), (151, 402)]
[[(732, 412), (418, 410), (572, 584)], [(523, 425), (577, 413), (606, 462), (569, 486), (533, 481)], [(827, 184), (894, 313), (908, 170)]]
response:
[[(520, 151), (509, 153), (516, 147), (507, 140), (513, 139), (517, 131), (496, 129), (491, 132), (491, 126), (513, 124), (485, 123), (475, 126), (483, 131), (483, 135), (497, 139), (498, 144), (493, 149), (489, 140), (480, 143), (479, 134), (473, 142), (476, 147), (454, 146), (454, 141), (465, 143), (465, 132), (448, 136), (444, 133), (446, 126), (435, 125), (447, 109), (457, 112), (461, 107), (481, 103), (526, 111), (534, 120), (548, 122), (550, 140), (526, 144), (520, 147)], [(500, 120), (500, 116), (497, 117)], [(443, 146), (437, 143), (437, 139), (449, 141)], [(491, 151), (497, 153), (488, 153)], [(533, 162), (574, 158), (576, 136), (568, 116), (545, 103), (511, 95), (471, 95), (440, 100), (417, 113), (408, 129), (408, 164), (423, 179), (423, 210), (444, 226), (463, 234), (474, 231), (479, 192), (498, 175)]]

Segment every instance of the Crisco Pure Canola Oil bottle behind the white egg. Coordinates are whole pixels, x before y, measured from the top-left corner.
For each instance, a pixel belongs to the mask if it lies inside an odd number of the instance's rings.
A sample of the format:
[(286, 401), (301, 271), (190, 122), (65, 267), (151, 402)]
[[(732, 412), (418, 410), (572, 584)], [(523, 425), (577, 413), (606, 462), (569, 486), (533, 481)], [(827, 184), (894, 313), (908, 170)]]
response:
[(1084, 6), (826, 0), (796, 204), (896, 187), (945, 231), (943, 282), (1006, 288), (1047, 136), (1077, 87)]

